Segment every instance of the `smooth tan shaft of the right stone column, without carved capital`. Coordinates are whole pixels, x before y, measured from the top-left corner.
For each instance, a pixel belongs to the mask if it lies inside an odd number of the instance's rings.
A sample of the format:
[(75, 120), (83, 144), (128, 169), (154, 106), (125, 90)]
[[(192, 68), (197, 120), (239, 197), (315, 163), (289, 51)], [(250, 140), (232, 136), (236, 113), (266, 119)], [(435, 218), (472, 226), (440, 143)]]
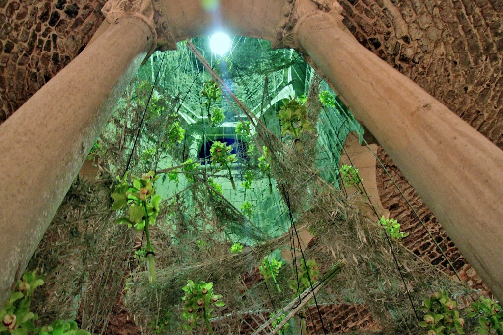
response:
[(503, 152), (338, 23), (314, 11), (294, 37), (503, 299)]

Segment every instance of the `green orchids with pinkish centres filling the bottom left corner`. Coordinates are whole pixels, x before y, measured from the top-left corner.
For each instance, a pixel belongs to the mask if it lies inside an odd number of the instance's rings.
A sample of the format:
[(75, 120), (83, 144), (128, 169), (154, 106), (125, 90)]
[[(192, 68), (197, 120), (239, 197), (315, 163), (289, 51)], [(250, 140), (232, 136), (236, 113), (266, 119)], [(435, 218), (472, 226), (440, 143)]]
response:
[(73, 320), (55, 320), (51, 325), (35, 327), (38, 315), (31, 310), (35, 289), (44, 284), (36, 271), (26, 272), (16, 284), (7, 305), (0, 311), (0, 335), (91, 335), (87, 330), (78, 329)]

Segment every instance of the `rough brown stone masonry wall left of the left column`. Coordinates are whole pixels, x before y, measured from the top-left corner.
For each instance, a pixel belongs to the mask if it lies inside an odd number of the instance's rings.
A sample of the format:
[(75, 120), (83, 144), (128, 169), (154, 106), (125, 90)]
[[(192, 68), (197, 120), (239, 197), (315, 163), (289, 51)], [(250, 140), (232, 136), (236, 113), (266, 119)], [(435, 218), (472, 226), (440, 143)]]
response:
[(105, 0), (0, 0), (0, 124), (68, 64)]

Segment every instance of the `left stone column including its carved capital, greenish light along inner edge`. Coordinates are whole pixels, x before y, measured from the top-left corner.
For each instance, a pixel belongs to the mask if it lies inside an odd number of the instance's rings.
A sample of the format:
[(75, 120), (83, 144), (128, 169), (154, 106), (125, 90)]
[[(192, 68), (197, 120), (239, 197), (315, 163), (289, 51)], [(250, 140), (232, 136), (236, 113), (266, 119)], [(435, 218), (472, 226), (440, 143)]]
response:
[(0, 308), (145, 56), (150, 0), (112, 0), (110, 28), (0, 127)]

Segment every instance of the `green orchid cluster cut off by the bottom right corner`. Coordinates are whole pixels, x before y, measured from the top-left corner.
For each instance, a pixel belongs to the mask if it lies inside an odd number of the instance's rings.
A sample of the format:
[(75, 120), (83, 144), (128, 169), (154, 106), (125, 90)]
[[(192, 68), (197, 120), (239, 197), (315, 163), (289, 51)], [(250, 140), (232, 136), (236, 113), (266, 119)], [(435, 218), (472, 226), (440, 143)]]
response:
[(478, 317), (475, 330), (479, 334), (503, 335), (503, 311), (493, 300), (480, 297), (478, 301), (472, 302), (465, 312), (468, 312), (466, 317)]

